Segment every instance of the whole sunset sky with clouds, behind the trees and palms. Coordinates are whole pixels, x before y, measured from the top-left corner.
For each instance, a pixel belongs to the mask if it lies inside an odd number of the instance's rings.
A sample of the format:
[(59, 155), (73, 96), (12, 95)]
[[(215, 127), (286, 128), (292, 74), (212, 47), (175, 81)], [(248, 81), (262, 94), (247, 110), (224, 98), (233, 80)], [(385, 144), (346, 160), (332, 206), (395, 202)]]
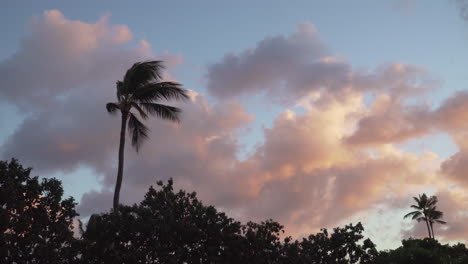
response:
[(296, 238), (361, 221), (379, 249), (439, 197), (468, 242), (468, 1), (4, 1), (0, 158), (59, 178), (82, 218), (109, 210), (134, 62), (189, 90), (179, 124), (126, 148), (121, 201), (173, 178), (242, 221)]

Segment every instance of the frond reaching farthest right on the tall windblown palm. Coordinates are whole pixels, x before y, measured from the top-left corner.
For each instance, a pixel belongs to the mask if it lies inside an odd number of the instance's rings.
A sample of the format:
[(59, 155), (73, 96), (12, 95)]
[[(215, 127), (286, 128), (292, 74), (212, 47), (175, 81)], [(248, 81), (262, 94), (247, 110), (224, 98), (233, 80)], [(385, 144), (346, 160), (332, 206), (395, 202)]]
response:
[(187, 100), (187, 90), (182, 88), (182, 85), (176, 82), (153, 82), (145, 86), (139, 87), (132, 95), (132, 100), (152, 103), (159, 100)]

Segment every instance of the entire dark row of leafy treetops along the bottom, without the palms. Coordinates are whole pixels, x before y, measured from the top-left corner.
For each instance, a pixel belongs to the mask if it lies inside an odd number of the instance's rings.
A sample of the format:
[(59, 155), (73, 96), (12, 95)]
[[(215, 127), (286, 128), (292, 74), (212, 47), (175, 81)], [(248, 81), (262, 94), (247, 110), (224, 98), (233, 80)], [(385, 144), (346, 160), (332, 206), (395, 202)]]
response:
[(241, 224), (172, 180), (139, 204), (91, 216), (74, 237), (73, 199), (62, 199), (60, 181), (30, 172), (0, 162), (0, 263), (468, 263), (465, 245), (434, 239), (378, 252), (361, 223), (294, 240), (273, 220)]

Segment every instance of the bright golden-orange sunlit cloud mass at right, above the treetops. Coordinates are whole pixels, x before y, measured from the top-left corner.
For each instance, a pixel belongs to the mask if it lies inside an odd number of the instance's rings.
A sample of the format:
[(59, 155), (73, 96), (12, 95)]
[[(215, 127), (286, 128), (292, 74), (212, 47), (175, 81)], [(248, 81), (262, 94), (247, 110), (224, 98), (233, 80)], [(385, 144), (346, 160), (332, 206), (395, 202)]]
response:
[(250, 173), (253, 194), (245, 215), (278, 219), (295, 234), (312, 232), (430, 184), (434, 176), (425, 164), (434, 163), (433, 155), (391, 146), (369, 153), (342, 141), (356, 101), (277, 118), (249, 159), (257, 170)]

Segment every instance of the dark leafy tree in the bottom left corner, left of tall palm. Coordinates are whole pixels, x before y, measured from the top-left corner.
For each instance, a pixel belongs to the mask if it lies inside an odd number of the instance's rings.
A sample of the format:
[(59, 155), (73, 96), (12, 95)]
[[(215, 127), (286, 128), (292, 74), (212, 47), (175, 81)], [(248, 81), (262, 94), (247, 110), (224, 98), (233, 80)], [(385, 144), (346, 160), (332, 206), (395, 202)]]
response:
[(30, 173), (15, 159), (0, 161), (0, 263), (71, 263), (75, 202), (62, 200), (59, 180)]

